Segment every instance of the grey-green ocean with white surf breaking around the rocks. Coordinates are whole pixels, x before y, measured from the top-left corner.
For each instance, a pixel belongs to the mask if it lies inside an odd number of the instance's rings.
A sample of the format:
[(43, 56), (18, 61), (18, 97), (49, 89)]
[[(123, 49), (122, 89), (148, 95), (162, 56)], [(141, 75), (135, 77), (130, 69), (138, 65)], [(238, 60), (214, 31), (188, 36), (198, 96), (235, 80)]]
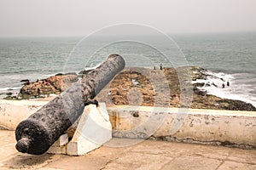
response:
[[(143, 37), (147, 43), (114, 39), (112, 42), (112, 37), (86, 41), (81, 41), (82, 37), (0, 38), (0, 98), (7, 92), (17, 93), (20, 80), (35, 81), (59, 72), (79, 72), (100, 64), (109, 54), (118, 53), (125, 58), (126, 66), (153, 68), (162, 63), (164, 67), (203, 67), (215, 76), (205, 81), (218, 85), (204, 87), (208, 94), (241, 99), (256, 106), (255, 32), (170, 37), (172, 43), (150, 36)], [(165, 53), (171, 57), (166, 59)], [(228, 81), (230, 87), (222, 88), (222, 83)]]

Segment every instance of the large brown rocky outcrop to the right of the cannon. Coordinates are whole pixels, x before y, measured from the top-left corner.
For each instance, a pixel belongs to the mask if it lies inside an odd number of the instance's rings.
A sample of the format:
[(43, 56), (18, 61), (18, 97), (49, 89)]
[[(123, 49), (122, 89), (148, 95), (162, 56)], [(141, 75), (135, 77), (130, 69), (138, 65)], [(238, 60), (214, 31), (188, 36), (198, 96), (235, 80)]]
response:
[[(107, 104), (112, 104), (113, 102), (114, 105), (256, 111), (256, 108), (252, 104), (240, 100), (222, 99), (207, 94), (207, 92), (200, 90), (200, 87), (203, 86), (202, 83), (188, 82), (206, 79), (208, 75), (205, 74), (205, 71), (205, 69), (195, 66), (177, 69), (163, 68), (162, 71), (132, 68), (122, 71), (114, 78), (108, 87), (108, 91), (111, 93), (108, 94), (108, 97), (101, 95), (107, 94), (107, 92), (103, 92), (97, 98), (104, 100)], [(189, 77), (189, 80), (183, 79), (183, 77)], [(163, 86), (163, 84), (166, 84), (169, 89)], [(181, 84), (184, 85), (182, 86)], [(182, 104), (181, 95), (183, 95), (183, 102), (186, 105)]]

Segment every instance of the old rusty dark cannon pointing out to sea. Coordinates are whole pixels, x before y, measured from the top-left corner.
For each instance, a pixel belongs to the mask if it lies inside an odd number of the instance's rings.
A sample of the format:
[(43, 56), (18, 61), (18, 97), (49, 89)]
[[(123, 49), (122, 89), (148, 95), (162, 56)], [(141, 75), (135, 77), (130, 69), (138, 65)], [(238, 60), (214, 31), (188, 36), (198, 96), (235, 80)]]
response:
[(102, 65), (20, 122), (15, 130), (16, 149), (22, 153), (43, 154), (79, 118), (85, 105), (97, 105), (93, 100), (96, 94), (124, 68), (125, 60), (119, 54), (109, 55)]

